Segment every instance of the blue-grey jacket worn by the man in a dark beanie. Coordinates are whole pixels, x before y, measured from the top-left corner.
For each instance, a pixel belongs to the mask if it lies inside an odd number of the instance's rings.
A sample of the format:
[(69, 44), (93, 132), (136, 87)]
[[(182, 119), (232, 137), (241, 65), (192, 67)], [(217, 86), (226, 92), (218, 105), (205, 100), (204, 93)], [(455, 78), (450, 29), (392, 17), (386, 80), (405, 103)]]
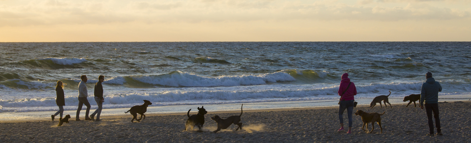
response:
[(429, 103), (439, 103), (439, 92), (441, 92), (441, 86), (438, 81), (435, 81), (433, 78), (428, 78), (422, 84), (422, 90), (420, 92), (420, 105), (423, 105), (425, 101), (426, 104)]

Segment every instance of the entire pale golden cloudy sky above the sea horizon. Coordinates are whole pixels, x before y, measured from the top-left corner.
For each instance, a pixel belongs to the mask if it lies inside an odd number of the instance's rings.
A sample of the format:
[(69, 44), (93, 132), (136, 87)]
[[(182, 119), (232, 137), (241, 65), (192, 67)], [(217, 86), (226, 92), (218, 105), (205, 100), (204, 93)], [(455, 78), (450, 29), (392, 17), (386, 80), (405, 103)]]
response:
[(0, 0), (0, 42), (471, 41), (471, 0)]

